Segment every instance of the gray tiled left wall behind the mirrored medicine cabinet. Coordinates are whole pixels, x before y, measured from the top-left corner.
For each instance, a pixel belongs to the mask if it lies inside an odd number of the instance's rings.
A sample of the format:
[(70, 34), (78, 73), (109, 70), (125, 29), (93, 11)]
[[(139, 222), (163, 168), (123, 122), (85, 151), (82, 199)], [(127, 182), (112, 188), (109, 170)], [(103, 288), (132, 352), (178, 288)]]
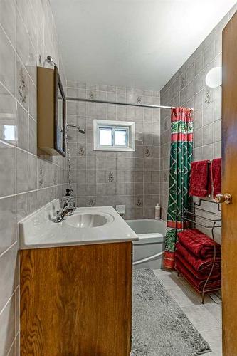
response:
[(19, 355), (16, 223), (62, 194), (64, 159), (36, 152), (36, 66), (59, 63), (48, 0), (0, 0), (0, 356)]

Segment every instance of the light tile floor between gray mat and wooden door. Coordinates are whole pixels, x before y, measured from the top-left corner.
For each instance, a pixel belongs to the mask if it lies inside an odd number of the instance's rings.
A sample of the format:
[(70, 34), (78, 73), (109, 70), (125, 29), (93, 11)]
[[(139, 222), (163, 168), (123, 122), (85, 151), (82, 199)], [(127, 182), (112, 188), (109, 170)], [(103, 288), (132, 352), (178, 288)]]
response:
[(205, 355), (222, 356), (221, 351), (221, 304), (216, 304), (208, 295), (201, 304), (201, 296), (195, 292), (184, 278), (176, 272), (161, 269), (154, 270), (172, 298), (179, 304), (191, 323), (209, 342), (212, 352)]

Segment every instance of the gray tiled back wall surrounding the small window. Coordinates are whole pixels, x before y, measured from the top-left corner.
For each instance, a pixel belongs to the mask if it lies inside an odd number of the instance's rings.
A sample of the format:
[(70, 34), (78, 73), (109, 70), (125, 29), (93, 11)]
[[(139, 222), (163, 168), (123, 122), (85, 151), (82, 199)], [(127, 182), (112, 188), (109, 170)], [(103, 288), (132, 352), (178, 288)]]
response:
[[(159, 92), (68, 81), (67, 95), (159, 105)], [(159, 201), (159, 109), (68, 103), (72, 179), (78, 206), (126, 205), (125, 219), (154, 217)], [(135, 152), (93, 151), (93, 119), (135, 121)], [(67, 177), (66, 177), (67, 179)]]

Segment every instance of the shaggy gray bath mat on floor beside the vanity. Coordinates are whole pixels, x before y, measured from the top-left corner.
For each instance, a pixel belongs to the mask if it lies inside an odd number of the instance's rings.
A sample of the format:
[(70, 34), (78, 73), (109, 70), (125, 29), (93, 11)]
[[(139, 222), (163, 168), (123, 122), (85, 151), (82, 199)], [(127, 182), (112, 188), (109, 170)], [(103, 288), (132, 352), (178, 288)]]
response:
[(196, 356), (210, 352), (150, 268), (133, 275), (132, 355)]

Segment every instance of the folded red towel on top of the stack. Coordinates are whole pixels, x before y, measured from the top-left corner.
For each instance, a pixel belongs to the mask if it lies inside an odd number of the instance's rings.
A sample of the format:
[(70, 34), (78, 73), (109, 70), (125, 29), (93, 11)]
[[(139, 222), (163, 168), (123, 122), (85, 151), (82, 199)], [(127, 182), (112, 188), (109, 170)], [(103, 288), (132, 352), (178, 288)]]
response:
[[(179, 242), (198, 258), (214, 256), (214, 241), (198, 229), (188, 229), (179, 232)], [(221, 245), (216, 245), (216, 257), (221, 257)]]

